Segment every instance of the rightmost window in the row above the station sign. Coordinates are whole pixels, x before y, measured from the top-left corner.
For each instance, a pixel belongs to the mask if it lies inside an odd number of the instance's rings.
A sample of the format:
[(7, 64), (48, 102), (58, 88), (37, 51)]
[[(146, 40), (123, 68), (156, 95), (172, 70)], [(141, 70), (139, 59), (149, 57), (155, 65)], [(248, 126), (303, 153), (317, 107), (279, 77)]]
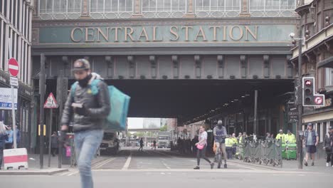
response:
[(250, 0), (251, 16), (295, 16), (296, 0)]

